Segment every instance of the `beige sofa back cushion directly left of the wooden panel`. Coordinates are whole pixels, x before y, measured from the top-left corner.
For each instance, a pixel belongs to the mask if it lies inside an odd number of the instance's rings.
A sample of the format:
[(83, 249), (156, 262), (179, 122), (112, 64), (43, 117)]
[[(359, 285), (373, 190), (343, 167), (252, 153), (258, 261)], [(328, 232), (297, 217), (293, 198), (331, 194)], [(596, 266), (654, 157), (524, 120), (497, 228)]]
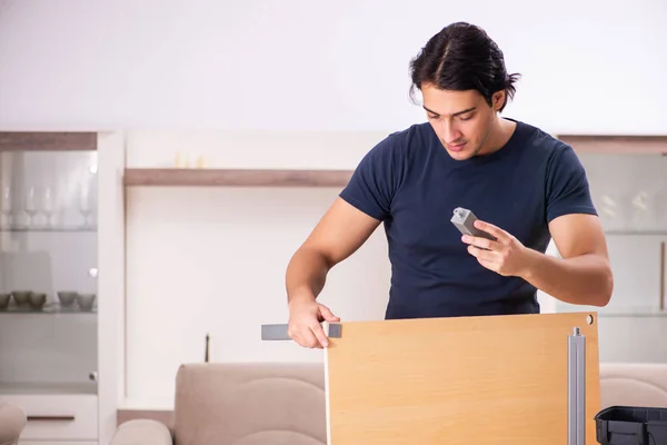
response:
[(321, 445), (322, 364), (193, 364), (176, 378), (178, 445)]

